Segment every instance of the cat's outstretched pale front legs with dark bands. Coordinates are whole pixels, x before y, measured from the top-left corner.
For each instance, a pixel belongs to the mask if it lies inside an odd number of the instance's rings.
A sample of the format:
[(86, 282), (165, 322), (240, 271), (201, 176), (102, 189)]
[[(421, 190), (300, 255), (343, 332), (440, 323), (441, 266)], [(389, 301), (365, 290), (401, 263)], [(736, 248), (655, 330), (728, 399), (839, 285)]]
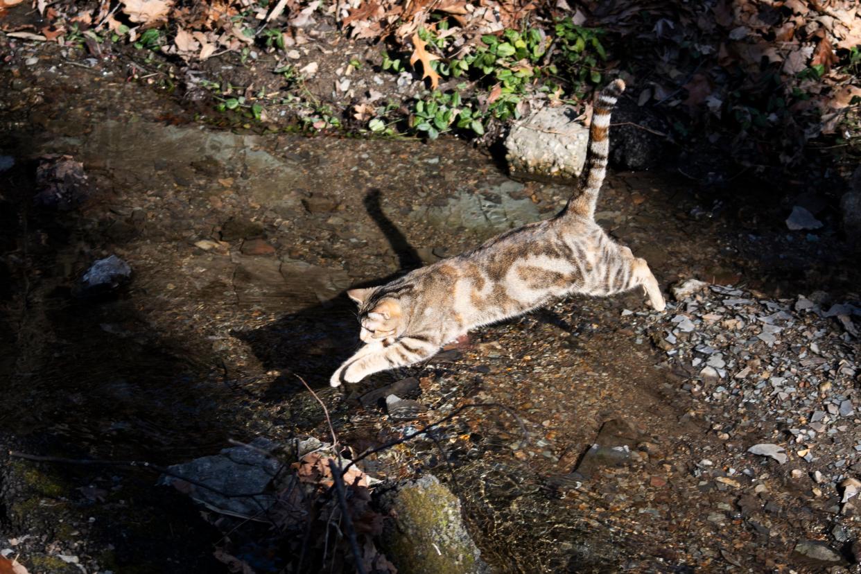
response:
[(369, 374), (390, 368), (406, 367), (424, 361), (437, 353), (439, 345), (425, 337), (404, 336), (389, 345), (370, 344), (362, 347), (331, 375), (331, 386), (356, 383)]

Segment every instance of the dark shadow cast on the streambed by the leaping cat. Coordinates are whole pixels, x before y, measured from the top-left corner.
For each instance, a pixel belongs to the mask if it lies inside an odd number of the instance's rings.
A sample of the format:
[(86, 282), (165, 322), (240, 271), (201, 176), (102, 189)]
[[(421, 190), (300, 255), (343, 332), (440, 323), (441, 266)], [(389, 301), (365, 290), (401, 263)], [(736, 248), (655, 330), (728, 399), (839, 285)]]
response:
[[(353, 287), (384, 285), (411, 269), (420, 267), (422, 261), (418, 252), (409, 244), (397, 225), (383, 213), (380, 190), (369, 190), (363, 203), (398, 256), (400, 271), (362, 281)], [(548, 309), (537, 311), (533, 317), (573, 333), (570, 324)], [(331, 373), (360, 345), (356, 303), (350, 300), (346, 293), (299, 312), (287, 313), (258, 329), (234, 330), (231, 335), (251, 347), (263, 368), (281, 372), (281, 376), (263, 395), (264, 400), (271, 402), (280, 402), (294, 392), (304, 390), (304, 386), (294, 375), (302, 377), (310, 386), (327, 386)]]

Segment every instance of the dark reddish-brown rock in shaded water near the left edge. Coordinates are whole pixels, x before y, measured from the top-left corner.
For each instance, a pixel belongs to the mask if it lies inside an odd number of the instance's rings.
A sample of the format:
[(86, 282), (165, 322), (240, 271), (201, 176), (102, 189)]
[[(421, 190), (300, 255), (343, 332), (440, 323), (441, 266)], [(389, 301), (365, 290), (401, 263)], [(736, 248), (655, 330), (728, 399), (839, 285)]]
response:
[(90, 184), (84, 174), (84, 164), (71, 156), (46, 156), (36, 168), (34, 203), (68, 211), (86, 201)]

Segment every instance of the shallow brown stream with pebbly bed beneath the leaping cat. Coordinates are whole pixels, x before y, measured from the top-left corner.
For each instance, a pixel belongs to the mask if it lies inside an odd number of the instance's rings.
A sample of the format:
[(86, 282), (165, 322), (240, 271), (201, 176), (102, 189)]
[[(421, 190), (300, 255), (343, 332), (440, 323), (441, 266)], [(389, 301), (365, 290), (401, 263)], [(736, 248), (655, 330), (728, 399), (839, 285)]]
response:
[[(127, 82), (124, 65), (19, 45), (0, 70), (0, 154), (15, 161), (0, 173), (0, 549), (20, 552), (30, 571), (79, 570), (61, 556), (86, 571), (226, 571), (212, 557), (221, 534), (155, 486), (155, 473), (8, 453), (167, 466), (230, 438), (325, 437), (296, 375), (357, 452), (418, 424), (357, 400), (406, 375), (420, 380), (426, 421), (465, 402), (505, 405), (464, 413), (438, 437), (444, 459), (418, 441), (366, 466), (378, 478), (431, 472), (446, 482), (497, 571), (850, 568), (855, 516), (823, 502), (836, 484), (823, 494), (807, 478), (827, 471), (827, 445), (819, 466), (778, 465), (745, 454), (769, 442), (757, 438), (771, 437), (774, 418), (719, 436), (746, 412), (685, 388), (691, 376), (651, 336), (669, 316), (649, 311), (641, 293), (572, 297), (479, 330), (426, 365), (327, 386), (357, 342), (347, 287), (548, 217), (569, 188), (512, 181), (456, 139), (216, 129), (195, 122), (189, 102)], [(83, 162), (90, 193), (80, 207), (34, 206), (46, 154)], [(734, 182), (728, 194), (672, 174), (616, 172), (597, 219), (663, 287), (696, 277), (763, 299), (852, 298), (859, 269), (835, 213), (821, 209), (815, 233), (790, 232), (778, 194)], [(110, 255), (130, 265), (130, 283), (79, 296), (81, 275)], [(852, 361), (857, 343), (847, 343)], [(638, 454), (587, 476), (586, 453), (613, 421), (635, 435)], [(752, 479), (709, 470), (730, 454)], [(844, 559), (811, 562), (796, 551), (803, 540)]]

